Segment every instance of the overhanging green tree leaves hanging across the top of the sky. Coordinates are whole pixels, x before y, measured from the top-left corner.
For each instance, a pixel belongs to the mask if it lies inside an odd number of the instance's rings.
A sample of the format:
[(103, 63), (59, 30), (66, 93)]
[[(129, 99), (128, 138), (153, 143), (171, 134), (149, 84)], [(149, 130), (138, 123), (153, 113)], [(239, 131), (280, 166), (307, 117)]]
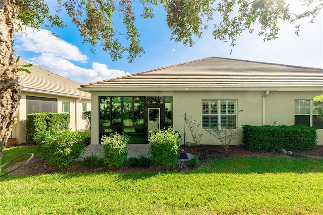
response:
[[(132, 62), (144, 53), (140, 45), (140, 33), (136, 27), (136, 12), (133, 8), (142, 7), (141, 17), (151, 19), (153, 9), (162, 5), (166, 12), (166, 22), (171, 30), (171, 39), (183, 45), (194, 45), (194, 37), (200, 38), (207, 22), (220, 14), (220, 21), (212, 23), (214, 39), (230, 42), (236, 45), (236, 40), (244, 32), (254, 31), (255, 23), (260, 24), (258, 34), (263, 41), (278, 38), (278, 22), (289, 21), (295, 26), (298, 35), (299, 25), (296, 21), (311, 17), (311, 22), (323, 8), (323, 2), (303, 0), (303, 5), (313, 6), (301, 14), (291, 13), (285, 1), (274, 0), (139, 0), (110, 1), (110, 0), (57, 0), (64, 6), (72, 23), (78, 27), (83, 41), (90, 44), (91, 51), (100, 44), (102, 50), (109, 52), (112, 60), (116, 61), (128, 53)], [(215, 5), (217, 3), (217, 5)], [(56, 8), (57, 14), (51, 14), (44, 0), (17, 1), (19, 13), (16, 31), (24, 32), (24, 26), (40, 29), (42, 26), (65, 27), (58, 13), (61, 6)], [(63, 5), (62, 5), (63, 4)], [(119, 23), (123, 22), (123, 26)], [(117, 24), (118, 23), (118, 24)], [(117, 28), (118, 26), (118, 28)], [(231, 49), (232, 50), (232, 49)], [(21, 71), (26, 71), (22, 69)], [(27, 71), (26, 71), (27, 72)]]

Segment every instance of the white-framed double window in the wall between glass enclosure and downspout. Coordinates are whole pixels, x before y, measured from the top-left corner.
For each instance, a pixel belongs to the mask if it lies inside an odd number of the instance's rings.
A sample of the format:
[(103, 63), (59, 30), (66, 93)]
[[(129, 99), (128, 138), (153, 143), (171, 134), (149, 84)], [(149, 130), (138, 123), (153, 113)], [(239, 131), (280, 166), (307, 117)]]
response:
[(236, 100), (203, 100), (203, 129), (236, 129)]

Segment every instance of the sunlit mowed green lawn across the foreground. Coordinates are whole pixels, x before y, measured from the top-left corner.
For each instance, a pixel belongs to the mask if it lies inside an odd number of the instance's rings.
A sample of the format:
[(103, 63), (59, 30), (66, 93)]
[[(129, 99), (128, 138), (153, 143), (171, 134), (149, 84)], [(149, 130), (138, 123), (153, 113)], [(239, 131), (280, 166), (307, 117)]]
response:
[(323, 160), (236, 157), (194, 171), (0, 178), (0, 214), (321, 214)]

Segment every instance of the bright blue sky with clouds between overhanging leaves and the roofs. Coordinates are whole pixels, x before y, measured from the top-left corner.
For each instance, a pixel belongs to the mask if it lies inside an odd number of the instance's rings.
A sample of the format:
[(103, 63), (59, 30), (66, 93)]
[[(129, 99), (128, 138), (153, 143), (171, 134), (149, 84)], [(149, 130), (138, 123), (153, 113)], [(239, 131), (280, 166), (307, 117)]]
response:
[[(56, 1), (46, 1), (53, 6)], [(303, 11), (298, 1), (291, 0), (292, 11)], [(237, 40), (230, 55), (229, 42), (214, 40), (212, 23), (202, 38), (196, 38), (193, 47), (183, 46), (170, 40), (171, 32), (165, 22), (165, 12), (162, 8), (155, 9), (155, 17), (145, 20), (137, 16), (137, 28), (141, 34), (141, 45), (145, 54), (128, 63), (127, 56), (115, 62), (109, 53), (96, 47), (96, 53), (90, 51), (88, 44), (82, 43), (82, 38), (76, 26), (63, 11), (61, 19), (66, 28), (52, 29), (60, 35), (56, 38), (50, 31), (42, 29), (34, 31), (26, 28), (27, 35), (15, 35), (14, 49), (17, 56), (32, 62), (37, 66), (69, 78), (80, 84), (101, 81), (113, 77), (142, 72), (164, 66), (170, 66), (205, 57), (225, 57), (241, 60), (278, 63), (286, 65), (323, 68), (323, 15), (320, 13), (314, 23), (300, 20), (299, 37), (294, 33), (294, 26), (280, 22), (278, 39), (263, 43), (263, 38), (257, 35), (259, 27), (255, 26), (253, 34), (244, 32)], [(218, 17), (214, 17), (217, 22)], [(122, 38), (121, 38), (122, 39)]]

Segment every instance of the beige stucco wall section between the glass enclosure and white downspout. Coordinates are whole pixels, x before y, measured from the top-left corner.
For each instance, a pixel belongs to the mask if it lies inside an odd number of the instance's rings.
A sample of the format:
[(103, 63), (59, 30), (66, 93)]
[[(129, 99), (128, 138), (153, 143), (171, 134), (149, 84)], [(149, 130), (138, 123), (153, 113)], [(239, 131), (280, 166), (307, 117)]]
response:
[[(262, 95), (263, 92), (177, 92), (173, 96), (173, 127), (184, 133), (184, 120), (178, 116), (191, 116), (192, 120), (202, 122), (202, 100), (236, 100), (237, 101), (237, 126), (238, 138), (232, 144), (239, 145), (242, 142), (242, 125), (261, 125), (262, 119)], [(177, 104), (180, 105), (177, 105)], [(201, 144), (220, 144), (214, 136), (202, 130), (203, 137)], [(191, 132), (186, 125), (186, 134), (189, 142), (193, 142)]]

